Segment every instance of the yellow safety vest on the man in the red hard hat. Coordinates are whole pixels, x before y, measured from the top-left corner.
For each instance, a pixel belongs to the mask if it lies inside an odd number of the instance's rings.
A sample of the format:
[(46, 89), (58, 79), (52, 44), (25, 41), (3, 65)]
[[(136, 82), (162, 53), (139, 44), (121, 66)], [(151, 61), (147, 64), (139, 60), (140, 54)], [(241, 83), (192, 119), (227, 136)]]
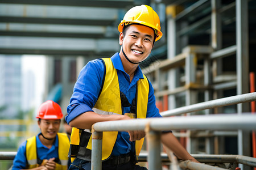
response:
[[(58, 152), (60, 164), (56, 163), (55, 170), (67, 170), (68, 165), (68, 151), (69, 151), (69, 139), (65, 133), (57, 133), (58, 135)], [(36, 137), (31, 137), (27, 139), (26, 145), (26, 157), (27, 157), (27, 168), (36, 168), (40, 165), (38, 164), (38, 158), (36, 154)]]

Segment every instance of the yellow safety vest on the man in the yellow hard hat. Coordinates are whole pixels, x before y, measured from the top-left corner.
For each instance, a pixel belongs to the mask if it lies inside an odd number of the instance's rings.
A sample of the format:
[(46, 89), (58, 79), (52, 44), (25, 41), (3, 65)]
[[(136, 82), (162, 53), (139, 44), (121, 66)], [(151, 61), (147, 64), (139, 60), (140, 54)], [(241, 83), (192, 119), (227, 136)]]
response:
[[(105, 63), (105, 79), (100, 96), (93, 111), (98, 114), (122, 114), (121, 97), (117, 70), (114, 69), (110, 58), (103, 58)], [(145, 75), (137, 82), (137, 118), (146, 118), (149, 84)], [(105, 131), (102, 138), (102, 160), (106, 160), (112, 153), (118, 131)], [(82, 142), (81, 142), (82, 141)], [(144, 138), (135, 142), (136, 155), (139, 155)], [(75, 158), (90, 160), (92, 150), (92, 136), (88, 130), (72, 129), (71, 161)]]

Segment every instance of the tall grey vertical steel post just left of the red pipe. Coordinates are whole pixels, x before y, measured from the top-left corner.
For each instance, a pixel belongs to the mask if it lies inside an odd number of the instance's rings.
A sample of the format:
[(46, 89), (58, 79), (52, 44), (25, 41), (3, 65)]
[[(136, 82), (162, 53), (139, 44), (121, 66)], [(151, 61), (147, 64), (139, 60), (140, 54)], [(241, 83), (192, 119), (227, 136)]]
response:
[[(236, 0), (236, 44), (237, 44), (237, 95), (249, 92), (249, 33), (248, 33), (248, 1)], [(238, 114), (249, 112), (249, 104), (238, 104)], [(250, 155), (250, 134), (238, 130), (238, 154)], [(249, 169), (242, 166), (241, 169)]]

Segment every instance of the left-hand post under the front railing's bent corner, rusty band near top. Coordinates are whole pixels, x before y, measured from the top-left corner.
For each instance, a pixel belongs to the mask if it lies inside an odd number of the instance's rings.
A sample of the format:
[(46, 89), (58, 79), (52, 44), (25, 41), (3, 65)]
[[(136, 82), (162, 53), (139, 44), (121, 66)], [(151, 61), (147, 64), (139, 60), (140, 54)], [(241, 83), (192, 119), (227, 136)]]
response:
[(101, 170), (102, 131), (92, 131), (92, 170)]

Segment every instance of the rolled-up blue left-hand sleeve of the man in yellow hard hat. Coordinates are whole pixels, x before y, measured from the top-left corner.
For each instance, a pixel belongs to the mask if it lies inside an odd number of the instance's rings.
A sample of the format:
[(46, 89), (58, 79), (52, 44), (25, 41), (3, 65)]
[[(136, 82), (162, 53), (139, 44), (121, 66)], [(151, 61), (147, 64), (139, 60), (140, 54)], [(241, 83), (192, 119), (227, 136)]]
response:
[(105, 66), (101, 59), (94, 59), (82, 68), (75, 83), (68, 105), (66, 121), (71, 122), (82, 113), (92, 111), (97, 102), (104, 77)]

